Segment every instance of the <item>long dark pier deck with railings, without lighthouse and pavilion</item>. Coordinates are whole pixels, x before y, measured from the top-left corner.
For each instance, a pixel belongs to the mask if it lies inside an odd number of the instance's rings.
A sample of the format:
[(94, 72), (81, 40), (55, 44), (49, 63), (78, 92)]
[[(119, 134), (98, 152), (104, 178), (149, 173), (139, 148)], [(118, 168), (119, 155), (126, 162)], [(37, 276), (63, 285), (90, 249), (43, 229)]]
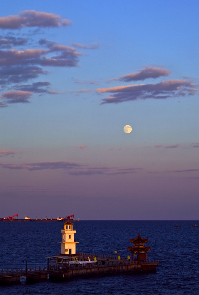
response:
[(20, 276), (26, 277), (28, 282), (36, 282), (47, 280), (48, 275), (50, 280), (67, 280), (70, 278), (82, 277), (88, 278), (91, 276), (104, 276), (117, 273), (139, 273), (139, 272), (155, 272), (156, 262), (141, 262), (134, 261), (106, 261), (102, 264), (99, 260), (96, 264), (68, 264), (63, 263), (47, 267), (39, 268), (15, 268), (0, 271), (0, 284), (16, 284), (20, 283)]

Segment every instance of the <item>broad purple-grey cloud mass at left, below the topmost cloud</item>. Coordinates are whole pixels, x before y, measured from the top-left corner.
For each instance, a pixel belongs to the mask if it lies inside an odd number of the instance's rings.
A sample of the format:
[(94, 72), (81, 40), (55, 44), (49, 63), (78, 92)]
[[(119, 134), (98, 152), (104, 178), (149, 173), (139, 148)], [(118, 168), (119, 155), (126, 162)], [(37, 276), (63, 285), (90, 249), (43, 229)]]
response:
[[(41, 74), (47, 74), (48, 71), (44, 71), (40, 66), (76, 67), (78, 65), (78, 57), (82, 53), (73, 47), (46, 39), (40, 40), (40, 43), (46, 48), (0, 50), (0, 85), (24, 83)], [(51, 53), (53, 55), (49, 57)]]

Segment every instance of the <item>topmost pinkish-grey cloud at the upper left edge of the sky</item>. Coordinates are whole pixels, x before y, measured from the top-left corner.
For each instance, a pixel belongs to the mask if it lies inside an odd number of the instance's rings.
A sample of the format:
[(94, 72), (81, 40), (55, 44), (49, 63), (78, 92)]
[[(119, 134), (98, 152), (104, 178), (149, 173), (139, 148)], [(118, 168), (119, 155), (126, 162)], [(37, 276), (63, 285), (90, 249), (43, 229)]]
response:
[(58, 14), (24, 10), (18, 15), (0, 17), (1, 29), (20, 29), (22, 27), (60, 27), (68, 26), (72, 22), (62, 19)]

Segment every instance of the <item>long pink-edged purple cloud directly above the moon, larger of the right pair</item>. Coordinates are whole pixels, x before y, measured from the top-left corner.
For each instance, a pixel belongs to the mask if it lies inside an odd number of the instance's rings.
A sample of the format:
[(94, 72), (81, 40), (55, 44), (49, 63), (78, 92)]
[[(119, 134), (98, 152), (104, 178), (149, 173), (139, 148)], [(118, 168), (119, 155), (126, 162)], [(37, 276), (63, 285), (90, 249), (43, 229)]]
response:
[(198, 84), (185, 80), (166, 80), (156, 84), (140, 84), (128, 86), (116, 86), (110, 88), (98, 88), (99, 93), (112, 93), (111, 96), (102, 99), (101, 104), (121, 103), (138, 99), (166, 99), (178, 96), (194, 95)]

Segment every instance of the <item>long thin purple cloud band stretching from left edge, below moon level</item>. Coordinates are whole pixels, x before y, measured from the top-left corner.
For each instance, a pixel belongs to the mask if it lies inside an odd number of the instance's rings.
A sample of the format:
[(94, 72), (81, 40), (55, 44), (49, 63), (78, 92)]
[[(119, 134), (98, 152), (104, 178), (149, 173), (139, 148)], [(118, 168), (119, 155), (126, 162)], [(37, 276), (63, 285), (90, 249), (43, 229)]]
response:
[(120, 168), (120, 167), (106, 167), (106, 166), (92, 166), (72, 162), (37, 162), (37, 163), (0, 163), (2, 168), (11, 170), (27, 169), (29, 171), (36, 170), (63, 170), (70, 175), (93, 175), (93, 174), (129, 174), (138, 173), (142, 168)]

